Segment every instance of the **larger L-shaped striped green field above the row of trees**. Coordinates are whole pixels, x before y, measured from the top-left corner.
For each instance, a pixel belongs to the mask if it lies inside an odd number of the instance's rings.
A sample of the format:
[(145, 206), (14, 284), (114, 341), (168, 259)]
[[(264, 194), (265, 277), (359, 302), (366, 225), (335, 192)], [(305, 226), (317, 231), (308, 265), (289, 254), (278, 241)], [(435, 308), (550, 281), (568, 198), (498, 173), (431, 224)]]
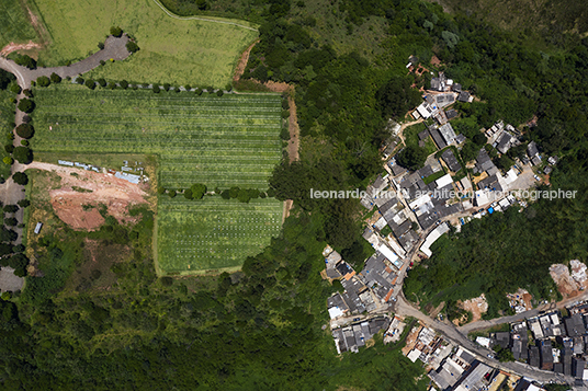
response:
[(204, 183), (264, 189), (281, 158), (282, 108), (275, 95), (156, 95), (55, 85), (36, 90), (35, 102), (33, 149), (159, 154), (159, 183), (167, 188)]

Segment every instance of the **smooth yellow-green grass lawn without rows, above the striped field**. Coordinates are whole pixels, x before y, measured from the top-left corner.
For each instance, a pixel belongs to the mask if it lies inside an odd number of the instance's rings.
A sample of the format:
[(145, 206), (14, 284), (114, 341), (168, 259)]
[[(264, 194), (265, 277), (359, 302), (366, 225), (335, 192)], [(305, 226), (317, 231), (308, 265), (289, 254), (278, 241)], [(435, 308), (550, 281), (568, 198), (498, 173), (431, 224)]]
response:
[[(109, 80), (225, 87), (239, 55), (258, 32), (218, 21), (179, 20), (152, 0), (35, 0), (52, 44), (44, 66), (65, 65), (98, 50), (113, 25), (137, 39), (140, 50), (90, 74)], [(244, 25), (248, 22), (234, 21)]]

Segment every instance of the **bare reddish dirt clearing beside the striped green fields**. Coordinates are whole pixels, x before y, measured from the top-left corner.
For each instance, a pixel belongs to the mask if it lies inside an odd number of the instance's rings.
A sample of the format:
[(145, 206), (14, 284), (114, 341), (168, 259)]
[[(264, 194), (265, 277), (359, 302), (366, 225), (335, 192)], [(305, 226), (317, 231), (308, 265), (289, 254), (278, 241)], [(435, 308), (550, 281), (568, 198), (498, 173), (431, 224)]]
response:
[(53, 171), (61, 177), (60, 188), (49, 191), (50, 202), (59, 219), (74, 229), (98, 229), (104, 222), (100, 205), (105, 205), (109, 215), (121, 223), (134, 222), (128, 207), (147, 203), (147, 184), (136, 185), (109, 174), (49, 163), (33, 162), (27, 168)]

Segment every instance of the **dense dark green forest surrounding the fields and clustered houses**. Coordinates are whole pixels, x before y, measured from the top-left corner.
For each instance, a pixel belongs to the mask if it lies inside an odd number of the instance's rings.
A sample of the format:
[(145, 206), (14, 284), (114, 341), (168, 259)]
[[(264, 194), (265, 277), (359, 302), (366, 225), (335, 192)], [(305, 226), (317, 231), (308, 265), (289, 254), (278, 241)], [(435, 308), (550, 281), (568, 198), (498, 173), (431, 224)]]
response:
[[(426, 379), (415, 380), (422, 369), (397, 347), (377, 342), (336, 357), (321, 329), (333, 287), (319, 276), (320, 251), (328, 242), (361, 262), (369, 249), (359, 244), (355, 200), (308, 197), (310, 188), (365, 187), (382, 171), (388, 119), (402, 119), (417, 104), (410, 85), (430, 78), (407, 74), (409, 56), (430, 67), (434, 53), (439, 70), (479, 97), (459, 106), (460, 127), (474, 143), (482, 126), (536, 116), (527, 139), (563, 157), (552, 183), (583, 198), (540, 202), (465, 226), (411, 272), (407, 297), (454, 302), (487, 291), (494, 315), (504, 294), (519, 286), (549, 296), (550, 263), (586, 260), (587, 39), (569, 36), (565, 47), (539, 51), (514, 34), (408, 0), (163, 2), (180, 14), (261, 23), (245, 78), (295, 85), (301, 161), (284, 161), (271, 179), (279, 198), (295, 200), (293, 216), (242, 272), (219, 277), (157, 278), (147, 210), (134, 227), (110, 219), (94, 233), (64, 228), (44, 238), (33, 250), (45, 277), (29, 278), (13, 302), (0, 301), (2, 388), (425, 390)], [(355, 35), (365, 43), (361, 50), (350, 49)], [(68, 285), (86, 267), (87, 239), (129, 254), (110, 271), (112, 290), (93, 289), (92, 276)]]

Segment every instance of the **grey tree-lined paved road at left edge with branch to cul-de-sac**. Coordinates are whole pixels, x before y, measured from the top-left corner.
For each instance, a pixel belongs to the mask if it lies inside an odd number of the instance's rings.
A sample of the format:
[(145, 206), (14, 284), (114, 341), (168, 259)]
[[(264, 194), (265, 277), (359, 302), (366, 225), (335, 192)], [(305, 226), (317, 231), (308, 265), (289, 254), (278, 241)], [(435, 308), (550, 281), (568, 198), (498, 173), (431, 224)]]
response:
[[(21, 89), (30, 89), (31, 82), (38, 79), (42, 76), (50, 77), (52, 73), (57, 73), (61, 78), (70, 77), (75, 78), (78, 74), (86, 73), (100, 66), (101, 61), (110, 61), (111, 59), (120, 61), (127, 58), (131, 53), (126, 49), (126, 44), (128, 42), (128, 36), (123, 35), (120, 38), (114, 36), (109, 36), (104, 42), (104, 49), (94, 53), (88, 58), (72, 64), (66, 67), (55, 67), (55, 68), (37, 68), (29, 69), (16, 65), (14, 61), (0, 57), (0, 69), (4, 69), (16, 77), (16, 82)], [(18, 99), (19, 102), (24, 97), (24, 94), (21, 93)], [(19, 126), (23, 123), (24, 113), (15, 108), (14, 124)], [(14, 146), (18, 147), (21, 145), (22, 138), (14, 133)], [(11, 168), (11, 173), (26, 170), (26, 165), (14, 163)], [(5, 181), (0, 185), (0, 199), (4, 205), (16, 204), (19, 200), (25, 198), (24, 186), (18, 185), (12, 181), (12, 177)], [(19, 209), (15, 214), (15, 218), (19, 220), (19, 223), (23, 222), (24, 212), (22, 208)], [(14, 244), (22, 243), (22, 233), (23, 229), (14, 227), (14, 231), (19, 234)], [(11, 290), (15, 291), (22, 288), (24, 279), (16, 277), (10, 267), (4, 267), (0, 271), (0, 290)]]

